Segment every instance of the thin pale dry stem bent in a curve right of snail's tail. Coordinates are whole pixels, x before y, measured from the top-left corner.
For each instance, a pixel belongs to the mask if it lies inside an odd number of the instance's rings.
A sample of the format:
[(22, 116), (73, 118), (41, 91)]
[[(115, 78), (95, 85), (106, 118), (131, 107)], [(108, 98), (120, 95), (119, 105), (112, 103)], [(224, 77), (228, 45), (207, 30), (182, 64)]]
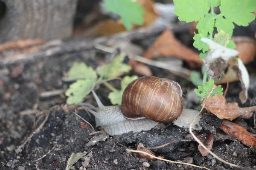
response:
[(215, 157), (216, 159), (218, 159), (219, 161), (225, 163), (225, 164), (228, 164), (230, 165), (231, 167), (238, 167), (238, 168), (241, 168), (241, 169), (244, 169), (244, 170), (247, 170), (248, 168), (246, 167), (241, 167), (239, 165), (236, 165), (236, 164), (232, 164), (230, 162), (227, 162), (223, 159), (221, 159), (220, 157), (218, 157), (217, 155), (215, 155), (215, 153), (213, 153), (212, 151), (210, 151), (206, 146), (204, 146), (204, 144), (195, 136), (195, 134), (192, 132), (192, 125), (194, 124), (195, 122), (195, 119), (196, 117), (203, 111), (204, 109), (204, 106), (206, 105), (206, 102), (209, 98), (209, 96), (212, 94), (212, 91), (214, 90), (215, 88), (212, 88), (212, 90), (210, 91), (210, 93), (208, 94), (207, 98), (205, 99), (204, 101), (204, 104), (203, 104), (203, 107), (201, 108), (201, 110), (198, 112), (198, 114), (194, 117), (194, 119), (192, 120), (190, 126), (189, 126), (189, 133), (191, 133), (191, 135), (193, 136), (193, 138), (195, 139), (196, 142), (198, 142), (198, 144), (200, 144), (202, 147), (204, 147), (205, 150), (207, 150), (207, 152), (209, 152), (213, 157)]

